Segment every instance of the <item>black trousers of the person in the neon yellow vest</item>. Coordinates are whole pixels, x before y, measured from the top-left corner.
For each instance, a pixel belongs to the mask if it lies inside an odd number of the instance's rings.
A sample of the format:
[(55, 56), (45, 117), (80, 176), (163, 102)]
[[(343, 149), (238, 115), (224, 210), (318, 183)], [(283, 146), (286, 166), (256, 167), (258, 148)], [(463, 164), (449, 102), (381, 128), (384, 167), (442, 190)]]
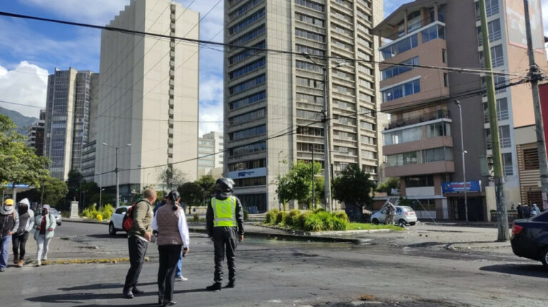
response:
[(215, 246), (215, 283), (223, 281), (223, 261), (228, 264), (228, 280), (236, 279), (236, 246), (238, 243), (238, 231), (236, 227), (214, 227), (213, 245)]

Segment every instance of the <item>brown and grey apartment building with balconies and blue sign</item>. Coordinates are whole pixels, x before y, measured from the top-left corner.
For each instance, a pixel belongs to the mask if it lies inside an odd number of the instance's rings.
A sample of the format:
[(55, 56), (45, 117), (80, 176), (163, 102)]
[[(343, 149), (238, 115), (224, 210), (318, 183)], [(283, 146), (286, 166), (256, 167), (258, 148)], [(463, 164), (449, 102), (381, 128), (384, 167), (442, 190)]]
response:
[[(520, 32), (521, 26), (524, 28), (520, 24), (523, 1), (487, 0), (486, 4), (494, 69), (525, 73), (527, 50), (524, 33)], [(537, 23), (535, 45), (540, 43), (542, 47), (539, 1), (532, 11)], [(484, 78), (443, 69), (393, 65), (484, 67), (477, 1), (416, 0), (403, 4), (376, 26), (374, 33), (387, 41), (379, 50), (384, 61), (380, 65), (380, 108), (391, 114), (390, 124), (383, 131), (387, 177), (400, 177), (401, 193), (414, 199), (420, 217), (465, 219), (462, 128), (467, 151), (466, 179), (472, 189), (467, 193), (469, 219), (488, 220), (489, 210), (496, 208), (494, 188), (489, 176), (481, 172), (480, 163), (482, 157), (492, 155), (487, 96), (463, 96), (484, 88)], [(545, 68), (544, 51), (537, 49), (535, 56)], [(497, 76), (495, 86), (517, 79)], [(455, 99), (462, 106), (462, 123)], [(529, 85), (497, 90), (497, 116), (510, 207), (519, 202), (514, 128), (534, 124)]]

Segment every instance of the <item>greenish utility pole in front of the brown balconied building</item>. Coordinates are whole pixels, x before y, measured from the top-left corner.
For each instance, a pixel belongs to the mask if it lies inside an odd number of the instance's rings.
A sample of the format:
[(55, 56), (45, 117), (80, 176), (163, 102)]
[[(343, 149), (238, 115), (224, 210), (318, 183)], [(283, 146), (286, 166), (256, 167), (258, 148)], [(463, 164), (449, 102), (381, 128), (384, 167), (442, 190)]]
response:
[[(480, 14), (482, 20), (483, 59), (485, 70), (492, 71), (491, 44), (489, 43), (489, 29), (487, 28), (487, 13), (485, 0), (480, 0)], [(504, 206), (504, 177), (502, 175), (502, 156), (500, 155), (499, 125), (497, 120), (497, 103), (494, 96), (494, 80), (492, 73), (485, 74), (487, 86), (487, 108), (489, 108), (489, 128), (491, 130), (491, 147), (493, 152), (494, 194), (497, 199), (497, 227), (499, 235), (497, 241), (508, 241), (508, 216)]]

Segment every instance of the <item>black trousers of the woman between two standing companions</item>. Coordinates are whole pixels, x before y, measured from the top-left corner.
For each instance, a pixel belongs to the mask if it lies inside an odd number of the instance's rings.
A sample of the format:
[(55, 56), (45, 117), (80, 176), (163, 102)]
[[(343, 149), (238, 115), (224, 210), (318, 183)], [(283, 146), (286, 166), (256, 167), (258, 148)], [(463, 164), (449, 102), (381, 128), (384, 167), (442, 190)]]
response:
[(173, 283), (175, 282), (175, 269), (182, 245), (160, 245), (160, 266), (158, 267), (158, 297), (163, 301), (171, 301), (173, 298)]

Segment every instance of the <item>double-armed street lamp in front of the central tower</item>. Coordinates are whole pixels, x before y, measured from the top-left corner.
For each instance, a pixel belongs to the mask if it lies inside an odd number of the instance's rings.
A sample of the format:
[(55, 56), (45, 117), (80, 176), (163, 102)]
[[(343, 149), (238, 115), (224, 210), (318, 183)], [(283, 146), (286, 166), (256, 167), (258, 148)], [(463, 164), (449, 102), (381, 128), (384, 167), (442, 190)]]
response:
[[(303, 56), (312, 61), (315, 66), (322, 68), (323, 71), (323, 130), (324, 130), (324, 193), (325, 193), (325, 207), (329, 206), (331, 211), (331, 150), (330, 150), (330, 123), (329, 123), (329, 98), (328, 98), (328, 70), (345, 66), (346, 63), (340, 63), (337, 66), (329, 67), (329, 58), (326, 59), (327, 65), (322, 65), (314, 61), (312, 57), (306, 52), (303, 52)], [(314, 178), (313, 178), (314, 180)]]

